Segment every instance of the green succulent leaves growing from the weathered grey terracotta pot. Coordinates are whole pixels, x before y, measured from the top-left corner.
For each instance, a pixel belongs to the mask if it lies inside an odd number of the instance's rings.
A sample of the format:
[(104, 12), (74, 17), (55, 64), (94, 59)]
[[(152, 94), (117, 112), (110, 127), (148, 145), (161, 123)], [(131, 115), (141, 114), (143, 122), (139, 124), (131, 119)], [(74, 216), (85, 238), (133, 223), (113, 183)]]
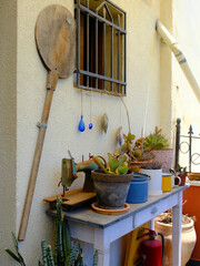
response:
[(92, 158), (106, 174), (119, 175), (127, 174), (129, 171), (127, 162), (128, 156), (126, 154), (116, 157), (111, 153), (108, 153), (108, 164), (106, 166), (101, 164), (98, 157), (92, 156)]

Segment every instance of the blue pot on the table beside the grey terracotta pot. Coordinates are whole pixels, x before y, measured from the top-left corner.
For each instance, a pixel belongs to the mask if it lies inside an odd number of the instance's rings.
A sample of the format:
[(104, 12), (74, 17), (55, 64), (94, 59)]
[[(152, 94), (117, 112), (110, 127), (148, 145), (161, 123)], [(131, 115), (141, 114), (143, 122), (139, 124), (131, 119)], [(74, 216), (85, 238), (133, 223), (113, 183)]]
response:
[(130, 183), (127, 203), (144, 203), (148, 201), (148, 181), (146, 174), (136, 173)]

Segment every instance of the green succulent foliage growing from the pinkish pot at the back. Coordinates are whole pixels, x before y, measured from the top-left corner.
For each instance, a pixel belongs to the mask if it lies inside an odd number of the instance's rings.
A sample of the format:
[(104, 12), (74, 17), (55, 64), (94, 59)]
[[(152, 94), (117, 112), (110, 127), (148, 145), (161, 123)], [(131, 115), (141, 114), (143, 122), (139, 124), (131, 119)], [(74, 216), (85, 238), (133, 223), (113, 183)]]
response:
[(168, 140), (161, 134), (161, 129), (156, 126), (154, 132), (148, 135), (143, 143), (144, 151), (163, 150), (169, 146)]

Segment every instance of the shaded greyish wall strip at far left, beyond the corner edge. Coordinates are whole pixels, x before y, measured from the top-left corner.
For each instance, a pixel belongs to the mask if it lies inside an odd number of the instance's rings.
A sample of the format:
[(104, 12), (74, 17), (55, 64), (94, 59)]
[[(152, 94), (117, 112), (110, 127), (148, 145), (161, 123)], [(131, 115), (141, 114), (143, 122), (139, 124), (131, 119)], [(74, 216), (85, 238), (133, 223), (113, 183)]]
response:
[[(6, 27), (4, 27), (6, 25)], [(0, 265), (17, 229), (17, 1), (0, 1)]]

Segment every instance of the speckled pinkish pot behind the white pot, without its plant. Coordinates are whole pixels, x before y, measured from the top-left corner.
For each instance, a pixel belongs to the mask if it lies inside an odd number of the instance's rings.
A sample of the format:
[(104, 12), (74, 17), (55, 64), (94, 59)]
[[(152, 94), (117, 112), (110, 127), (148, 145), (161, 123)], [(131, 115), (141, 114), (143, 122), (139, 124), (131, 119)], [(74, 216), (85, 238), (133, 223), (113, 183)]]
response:
[(173, 149), (153, 150), (150, 151), (154, 155), (153, 163), (162, 165), (162, 172), (169, 173), (173, 164)]

